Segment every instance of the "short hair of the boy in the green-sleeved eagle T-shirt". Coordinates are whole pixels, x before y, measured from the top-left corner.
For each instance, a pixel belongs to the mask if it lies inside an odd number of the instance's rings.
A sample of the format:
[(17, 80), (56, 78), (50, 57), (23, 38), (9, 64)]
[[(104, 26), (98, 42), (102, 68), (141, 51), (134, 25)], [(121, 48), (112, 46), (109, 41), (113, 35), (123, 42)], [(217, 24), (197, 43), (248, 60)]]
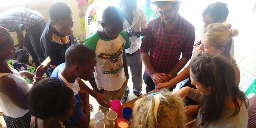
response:
[(124, 17), (121, 10), (115, 6), (107, 7), (102, 15), (103, 23), (108, 26), (110, 24), (123, 25)]

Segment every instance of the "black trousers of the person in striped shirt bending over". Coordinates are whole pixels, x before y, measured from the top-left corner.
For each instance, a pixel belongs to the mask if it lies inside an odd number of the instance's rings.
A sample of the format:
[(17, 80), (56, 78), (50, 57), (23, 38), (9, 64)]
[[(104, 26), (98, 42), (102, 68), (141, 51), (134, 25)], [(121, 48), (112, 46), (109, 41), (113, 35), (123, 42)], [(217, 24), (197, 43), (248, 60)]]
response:
[(26, 30), (26, 35), (24, 37), (24, 46), (33, 58), (36, 66), (39, 66), (41, 62), (45, 60), (42, 47), (40, 45), (40, 37), (46, 26), (45, 20), (35, 24)]

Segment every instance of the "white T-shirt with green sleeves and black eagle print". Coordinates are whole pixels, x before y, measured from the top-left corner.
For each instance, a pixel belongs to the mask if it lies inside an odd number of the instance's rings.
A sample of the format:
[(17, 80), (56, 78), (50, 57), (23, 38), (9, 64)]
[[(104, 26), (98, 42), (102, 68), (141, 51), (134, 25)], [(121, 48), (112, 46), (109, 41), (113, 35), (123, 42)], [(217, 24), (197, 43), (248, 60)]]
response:
[(86, 38), (85, 45), (96, 53), (95, 81), (99, 89), (115, 91), (126, 81), (123, 67), (123, 50), (130, 47), (129, 37), (125, 31), (115, 39), (104, 39), (98, 32)]

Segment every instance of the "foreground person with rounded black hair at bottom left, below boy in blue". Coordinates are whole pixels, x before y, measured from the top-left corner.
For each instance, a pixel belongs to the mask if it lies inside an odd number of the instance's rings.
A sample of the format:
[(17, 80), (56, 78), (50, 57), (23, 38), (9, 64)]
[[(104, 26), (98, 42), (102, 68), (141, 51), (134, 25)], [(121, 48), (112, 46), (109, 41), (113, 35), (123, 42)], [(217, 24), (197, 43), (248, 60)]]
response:
[(38, 82), (29, 94), (28, 108), (32, 115), (30, 128), (67, 128), (67, 120), (75, 109), (73, 91), (56, 77)]

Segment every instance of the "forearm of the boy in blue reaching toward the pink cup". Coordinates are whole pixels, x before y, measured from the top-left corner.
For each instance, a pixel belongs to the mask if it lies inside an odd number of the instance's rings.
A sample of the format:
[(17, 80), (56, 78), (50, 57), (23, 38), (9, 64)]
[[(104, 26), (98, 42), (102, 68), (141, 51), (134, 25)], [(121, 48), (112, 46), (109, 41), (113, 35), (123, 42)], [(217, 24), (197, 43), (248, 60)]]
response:
[[(94, 82), (95, 82), (95, 79), (94, 79)], [(81, 79), (78, 80), (78, 83), (79, 83), (79, 86), (82, 89), (84, 89), (85, 91), (87, 91), (91, 96), (93, 96), (100, 105), (102, 105), (104, 107), (109, 107), (110, 106), (109, 105), (110, 101), (105, 96), (103, 96), (102, 94), (98, 93), (97, 91), (91, 90), (91, 88), (86, 86), (86, 84)], [(96, 82), (95, 82), (95, 85), (96, 85)], [(96, 86), (96, 88), (97, 88), (97, 86)], [(97, 90), (98, 90), (98, 88), (97, 88)]]

